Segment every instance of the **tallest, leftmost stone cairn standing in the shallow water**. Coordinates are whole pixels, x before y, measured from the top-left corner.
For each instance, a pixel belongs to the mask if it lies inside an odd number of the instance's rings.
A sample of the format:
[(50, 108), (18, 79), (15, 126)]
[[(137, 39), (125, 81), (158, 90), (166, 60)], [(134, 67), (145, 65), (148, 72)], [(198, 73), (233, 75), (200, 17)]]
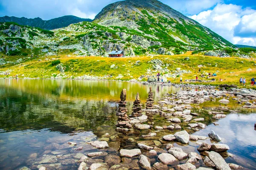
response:
[(126, 89), (122, 89), (121, 95), (120, 95), (120, 101), (118, 103), (118, 111), (116, 112), (116, 116), (118, 116), (118, 123), (116, 124), (117, 131), (128, 131), (132, 125), (129, 123), (130, 120), (127, 116), (127, 108), (126, 108)]

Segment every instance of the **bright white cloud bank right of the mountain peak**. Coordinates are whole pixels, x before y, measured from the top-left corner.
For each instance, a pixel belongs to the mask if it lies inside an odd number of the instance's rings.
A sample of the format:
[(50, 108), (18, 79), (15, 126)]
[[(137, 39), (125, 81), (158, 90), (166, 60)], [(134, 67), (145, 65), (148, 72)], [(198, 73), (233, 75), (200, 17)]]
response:
[(189, 17), (233, 44), (256, 46), (256, 10), (233, 4), (217, 4), (212, 10)]

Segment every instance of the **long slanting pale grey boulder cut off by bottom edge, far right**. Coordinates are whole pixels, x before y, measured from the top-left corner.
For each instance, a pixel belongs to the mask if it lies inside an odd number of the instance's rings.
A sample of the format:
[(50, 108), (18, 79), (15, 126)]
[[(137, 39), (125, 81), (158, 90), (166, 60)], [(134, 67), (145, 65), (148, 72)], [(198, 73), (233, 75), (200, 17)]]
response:
[(226, 161), (217, 152), (211, 151), (209, 159), (215, 164), (216, 170), (231, 170)]

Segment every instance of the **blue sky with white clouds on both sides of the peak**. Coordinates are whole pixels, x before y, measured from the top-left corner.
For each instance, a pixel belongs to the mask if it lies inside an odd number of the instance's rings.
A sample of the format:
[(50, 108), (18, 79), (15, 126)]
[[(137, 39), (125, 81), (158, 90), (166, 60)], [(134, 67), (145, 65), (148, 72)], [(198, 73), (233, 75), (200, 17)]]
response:
[[(93, 19), (118, 0), (0, 0), (0, 17)], [(256, 46), (256, 0), (160, 0), (234, 44)]]

